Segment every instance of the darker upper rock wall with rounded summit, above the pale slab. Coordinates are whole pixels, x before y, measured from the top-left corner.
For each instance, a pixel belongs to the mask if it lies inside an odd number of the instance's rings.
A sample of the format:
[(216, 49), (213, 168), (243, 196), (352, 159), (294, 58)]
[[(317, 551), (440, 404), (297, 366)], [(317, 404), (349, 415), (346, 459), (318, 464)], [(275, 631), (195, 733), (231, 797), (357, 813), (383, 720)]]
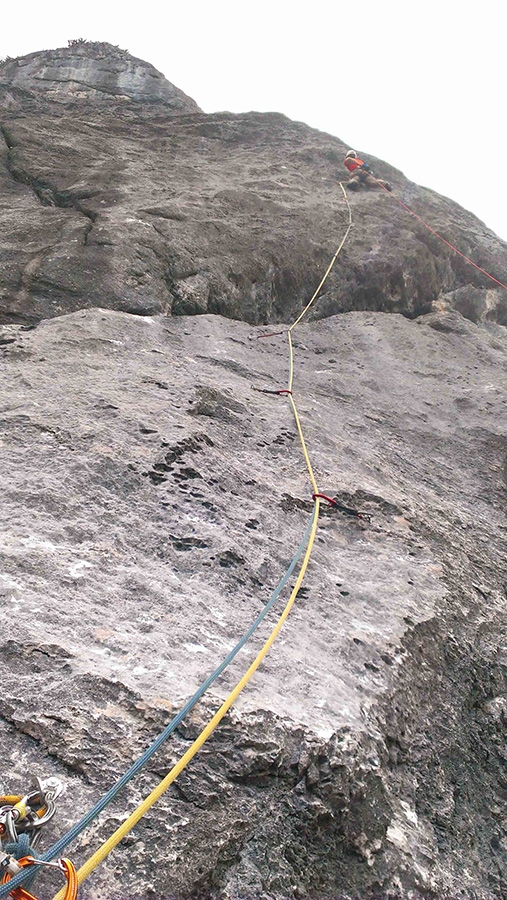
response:
[[(146, 63), (78, 45), (0, 65), (0, 321), (101, 306), (288, 321), (345, 229), (341, 140), (276, 113), (205, 115)], [(507, 282), (506, 244), (456, 203), (372, 160), (394, 196)], [(456, 308), (507, 322), (505, 291), (383, 191), (318, 315)]]

